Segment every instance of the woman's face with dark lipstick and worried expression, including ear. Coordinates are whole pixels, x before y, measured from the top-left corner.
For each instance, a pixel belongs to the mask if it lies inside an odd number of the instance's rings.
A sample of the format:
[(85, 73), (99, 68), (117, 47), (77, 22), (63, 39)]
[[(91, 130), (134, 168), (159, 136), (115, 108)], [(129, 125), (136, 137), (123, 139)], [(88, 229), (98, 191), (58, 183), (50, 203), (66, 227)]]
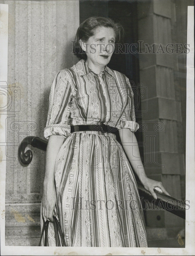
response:
[(98, 27), (87, 42), (83, 42), (83, 50), (87, 55), (87, 62), (93, 65), (106, 66), (114, 51), (115, 33), (113, 28)]

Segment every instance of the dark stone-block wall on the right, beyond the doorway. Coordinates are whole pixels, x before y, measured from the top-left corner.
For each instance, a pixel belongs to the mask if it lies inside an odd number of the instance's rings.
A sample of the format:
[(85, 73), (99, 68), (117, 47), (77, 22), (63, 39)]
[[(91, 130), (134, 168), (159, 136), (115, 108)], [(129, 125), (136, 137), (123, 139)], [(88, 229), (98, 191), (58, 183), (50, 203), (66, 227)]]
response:
[[(139, 54), (140, 83), (147, 87), (147, 99), (141, 100), (142, 125), (144, 143), (147, 143), (144, 154), (144, 166), (149, 178), (159, 180), (172, 197), (177, 199), (181, 195), (181, 175), (185, 175), (185, 151), (182, 143), (185, 141), (185, 129), (182, 131), (181, 97), (178, 96), (180, 82), (176, 78), (179, 71), (179, 57), (185, 62), (185, 54), (168, 54), (167, 44), (184, 43), (176, 37), (176, 27), (181, 23), (177, 15), (187, 17), (187, 3), (184, 9), (177, 9), (175, 1), (152, 0), (138, 2), (138, 34), (142, 42), (142, 52), (146, 51), (144, 44), (151, 49), (151, 53)], [(183, 20), (183, 27), (187, 29), (187, 20)], [(140, 43), (141, 44), (141, 43)], [(152, 44), (155, 52), (152, 53)], [(171, 45), (167, 50), (171, 52)], [(185, 57), (184, 57), (185, 56)], [(185, 76), (185, 70), (183, 76)], [(185, 88), (184, 88), (185, 90)], [(185, 108), (185, 105), (183, 105)], [(183, 109), (183, 114), (184, 113)], [(185, 118), (185, 115), (183, 115)], [(164, 210), (147, 210), (147, 226), (149, 239), (165, 239), (177, 235), (184, 227), (184, 221)], [(161, 229), (159, 229), (161, 228)], [(159, 231), (160, 230), (160, 231)]]

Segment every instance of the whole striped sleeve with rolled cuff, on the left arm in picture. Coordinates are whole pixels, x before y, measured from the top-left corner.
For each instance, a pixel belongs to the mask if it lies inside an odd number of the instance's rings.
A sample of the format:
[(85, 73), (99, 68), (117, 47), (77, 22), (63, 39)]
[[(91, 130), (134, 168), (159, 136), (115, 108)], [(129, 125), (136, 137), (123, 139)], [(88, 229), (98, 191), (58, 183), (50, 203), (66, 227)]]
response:
[(53, 80), (48, 104), (47, 123), (44, 128), (44, 137), (50, 135), (62, 135), (67, 137), (70, 134), (69, 115), (71, 106), (72, 90), (66, 76), (66, 71), (58, 72)]

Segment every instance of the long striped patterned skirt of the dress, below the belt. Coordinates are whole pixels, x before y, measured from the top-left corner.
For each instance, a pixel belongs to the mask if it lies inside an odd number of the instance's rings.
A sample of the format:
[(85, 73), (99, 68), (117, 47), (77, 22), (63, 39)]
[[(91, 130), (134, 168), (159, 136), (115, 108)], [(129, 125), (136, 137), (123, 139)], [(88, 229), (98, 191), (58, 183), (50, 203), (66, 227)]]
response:
[[(69, 134), (54, 175), (55, 212), (67, 246), (148, 247), (135, 176), (115, 134)], [(56, 246), (52, 222), (48, 244)]]

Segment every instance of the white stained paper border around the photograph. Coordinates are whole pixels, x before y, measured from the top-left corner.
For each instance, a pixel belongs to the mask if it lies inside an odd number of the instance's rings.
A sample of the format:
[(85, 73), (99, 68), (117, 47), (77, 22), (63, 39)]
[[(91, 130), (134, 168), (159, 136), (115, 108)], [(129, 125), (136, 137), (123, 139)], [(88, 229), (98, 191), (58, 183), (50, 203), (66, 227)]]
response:
[[(8, 62), (8, 4), (1, 4), (0, 81), (7, 81)], [(5, 246), (5, 178), (6, 161), (0, 161), (0, 235), (1, 255), (195, 255), (195, 184), (194, 165), (194, 6), (188, 6), (187, 43), (187, 102), (186, 102), (186, 199), (190, 209), (186, 211), (185, 248), (102, 248), (102, 247), (31, 247)], [(5, 102), (1, 102), (5, 105)], [(1, 104), (0, 103), (0, 104)], [(6, 113), (0, 115), (2, 127), (0, 140), (6, 138)], [(2, 159), (6, 159), (6, 143), (0, 143)]]

